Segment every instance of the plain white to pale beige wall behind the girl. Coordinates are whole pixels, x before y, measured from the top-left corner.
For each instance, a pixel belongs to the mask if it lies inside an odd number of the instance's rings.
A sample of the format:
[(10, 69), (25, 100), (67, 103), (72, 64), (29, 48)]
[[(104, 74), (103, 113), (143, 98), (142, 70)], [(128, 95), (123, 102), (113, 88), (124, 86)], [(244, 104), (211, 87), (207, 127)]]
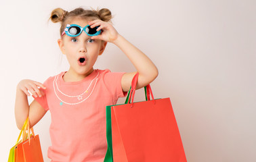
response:
[[(69, 68), (57, 43), (60, 24), (47, 23), (51, 11), (89, 6), (110, 9), (116, 30), (156, 64), (152, 90), (155, 98), (171, 98), (188, 161), (256, 161), (253, 0), (1, 0), (1, 161), (20, 132), (14, 117), (18, 82), (44, 82)], [(110, 43), (95, 68), (135, 71)], [(144, 100), (141, 90), (135, 97)], [(35, 126), (45, 161), (50, 121), (47, 112)]]

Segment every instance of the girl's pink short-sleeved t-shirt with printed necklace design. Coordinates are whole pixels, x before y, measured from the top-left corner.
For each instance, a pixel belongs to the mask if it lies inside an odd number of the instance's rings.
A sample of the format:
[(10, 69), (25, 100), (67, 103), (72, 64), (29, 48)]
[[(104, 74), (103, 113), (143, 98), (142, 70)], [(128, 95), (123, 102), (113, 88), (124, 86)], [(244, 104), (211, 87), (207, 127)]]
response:
[(45, 80), (45, 95), (34, 97), (51, 112), (48, 157), (54, 162), (103, 162), (107, 151), (106, 106), (127, 95), (121, 87), (125, 73), (94, 70), (79, 82), (64, 82), (64, 73)]

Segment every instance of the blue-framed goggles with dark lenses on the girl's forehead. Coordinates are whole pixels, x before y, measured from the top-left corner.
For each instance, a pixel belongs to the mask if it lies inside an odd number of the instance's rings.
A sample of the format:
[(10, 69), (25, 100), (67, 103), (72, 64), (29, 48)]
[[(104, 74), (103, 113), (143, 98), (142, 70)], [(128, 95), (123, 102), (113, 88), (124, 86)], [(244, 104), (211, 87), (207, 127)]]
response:
[(95, 28), (91, 28), (91, 26), (87, 25), (84, 28), (77, 24), (67, 24), (66, 28), (62, 32), (62, 36), (66, 33), (68, 36), (79, 36), (82, 31), (85, 31), (85, 33), (89, 36), (96, 36), (100, 34), (101, 30), (97, 31), (97, 28), (99, 26), (96, 26)]

